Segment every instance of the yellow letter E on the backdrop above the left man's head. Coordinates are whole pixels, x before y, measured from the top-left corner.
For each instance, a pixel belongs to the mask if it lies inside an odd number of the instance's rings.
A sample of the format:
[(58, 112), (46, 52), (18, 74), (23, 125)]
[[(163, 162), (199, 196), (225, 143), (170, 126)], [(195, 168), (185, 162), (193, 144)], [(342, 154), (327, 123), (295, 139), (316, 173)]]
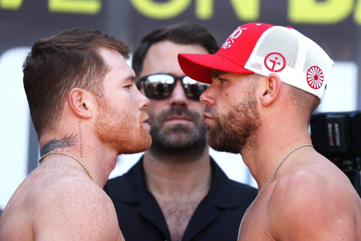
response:
[(49, 12), (97, 14), (101, 0), (49, 0)]

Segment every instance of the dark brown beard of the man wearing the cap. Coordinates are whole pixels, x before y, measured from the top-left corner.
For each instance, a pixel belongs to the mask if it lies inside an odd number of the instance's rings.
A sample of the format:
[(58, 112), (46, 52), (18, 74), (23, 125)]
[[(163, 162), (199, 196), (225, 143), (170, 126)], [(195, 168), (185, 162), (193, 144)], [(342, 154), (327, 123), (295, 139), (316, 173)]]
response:
[(215, 122), (214, 127), (207, 126), (206, 139), (210, 147), (216, 151), (242, 155), (257, 145), (256, 136), (261, 122), (257, 100), (252, 96), (254, 91), (250, 90), (245, 99), (223, 115), (206, 106), (204, 112), (211, 113)]

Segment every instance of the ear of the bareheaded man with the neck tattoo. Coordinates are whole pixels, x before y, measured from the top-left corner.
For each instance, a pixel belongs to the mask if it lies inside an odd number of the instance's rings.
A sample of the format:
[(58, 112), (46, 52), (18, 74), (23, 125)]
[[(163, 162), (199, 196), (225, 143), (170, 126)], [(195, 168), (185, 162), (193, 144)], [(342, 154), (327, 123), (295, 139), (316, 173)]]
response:
[(83, 118), (91, 118), (94, 108), (91, 100), (92, 94), (88, 91), (74, 88), (69, 92), (68, 104), (75, 115)]

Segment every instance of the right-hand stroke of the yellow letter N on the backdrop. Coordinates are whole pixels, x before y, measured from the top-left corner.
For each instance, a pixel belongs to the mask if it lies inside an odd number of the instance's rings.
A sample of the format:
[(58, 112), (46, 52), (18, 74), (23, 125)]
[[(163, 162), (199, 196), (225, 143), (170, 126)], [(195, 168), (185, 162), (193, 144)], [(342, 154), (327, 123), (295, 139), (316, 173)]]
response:
[(260, 0), (231, 0), (239, 20), (255, 21), (260, 16)]

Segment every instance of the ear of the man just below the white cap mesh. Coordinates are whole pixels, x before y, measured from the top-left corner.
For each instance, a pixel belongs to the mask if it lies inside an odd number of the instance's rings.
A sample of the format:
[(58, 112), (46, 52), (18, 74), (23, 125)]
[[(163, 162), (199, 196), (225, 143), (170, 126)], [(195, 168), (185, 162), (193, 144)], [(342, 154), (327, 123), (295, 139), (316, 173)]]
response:
[(279, 95), (281, 89), (281, 80), (275, 73), (270, 73), (262, 83), (261, 105), (268, 106)]

